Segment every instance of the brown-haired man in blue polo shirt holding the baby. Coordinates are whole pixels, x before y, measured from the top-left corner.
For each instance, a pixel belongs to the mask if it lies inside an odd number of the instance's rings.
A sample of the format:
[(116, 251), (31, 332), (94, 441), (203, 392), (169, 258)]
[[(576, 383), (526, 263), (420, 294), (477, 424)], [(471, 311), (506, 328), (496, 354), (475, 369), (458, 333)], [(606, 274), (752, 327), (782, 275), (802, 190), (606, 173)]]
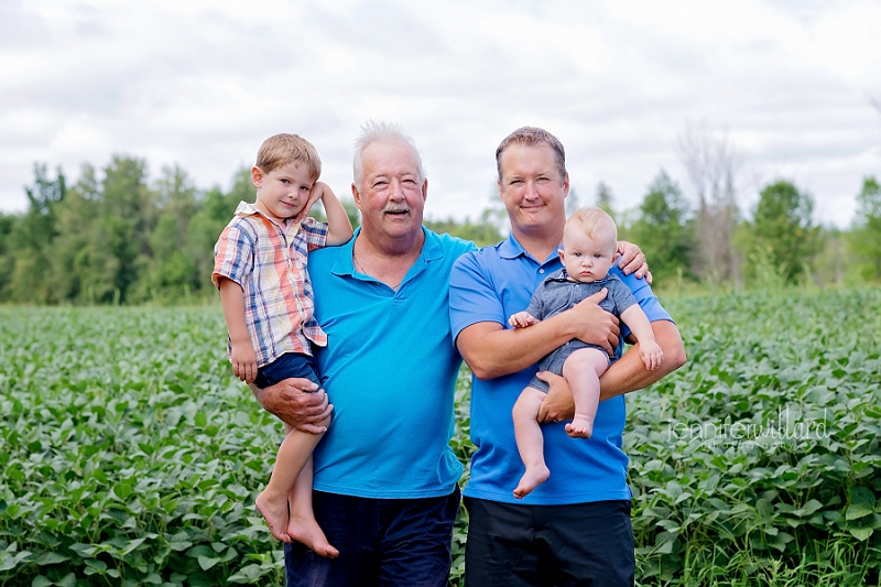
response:
[[(663, 365), (648, 371), (639, 352), (630, 351), (606, 371), (600, 380), (605, 401), (589, 441), (570, 438), (562, 422), (547, 424), (544, 452), (551, 478), (516, 500), (512, 489), (523, 468), (511, 409), (535, 373), (535, 362), (573, 338), (608, 348), (603, 333), (616, 331), (617, 320), (588, 298), (529, 328), (507, 327), (508, 317), (529, 305), (535, 286), (562, 267), (557, 249), (569, 177), (563, 145), (542, 129), (514, 131), (499, 145), (496, 157), (511, 236), (464, 256), (450, 276), (453, 333), (476, 376), (471, 437), (478, 449), (465, 490), (470, 520), (466, 585), (632, 585), (622, 394), (678, 368), (685, 360), (682, 340), (648, 283), (623, 278), (652, 323), (664, 351)], [(586, 330), (585, 323), (594, 328)], [(553, 393), (543, 402), (540, 418), (570, 420), (570, 398), (561, 404)]]

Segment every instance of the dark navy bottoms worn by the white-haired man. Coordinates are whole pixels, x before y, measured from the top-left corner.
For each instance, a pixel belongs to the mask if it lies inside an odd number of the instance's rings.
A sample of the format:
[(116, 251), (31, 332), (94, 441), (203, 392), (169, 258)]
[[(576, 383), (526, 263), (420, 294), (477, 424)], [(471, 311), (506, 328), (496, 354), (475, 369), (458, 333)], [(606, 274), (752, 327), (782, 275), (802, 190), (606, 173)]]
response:
[[(405, 475), (405, 474), (404, 474)], [(313, 491), (313, 509), (338, 558), (284, 545), (287, 587), (446, 587), (458, 486), (449, 496), (370, 499)]]

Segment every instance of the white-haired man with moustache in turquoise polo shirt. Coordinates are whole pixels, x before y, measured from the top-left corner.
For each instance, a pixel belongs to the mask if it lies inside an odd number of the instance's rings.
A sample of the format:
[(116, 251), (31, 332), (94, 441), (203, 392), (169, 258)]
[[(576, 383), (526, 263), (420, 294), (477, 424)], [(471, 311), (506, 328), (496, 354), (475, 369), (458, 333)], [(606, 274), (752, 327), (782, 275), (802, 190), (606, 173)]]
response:
[[(447, 283), (475, 247), (422, 226), (428, 184), (395, 127), (367, 124), (354, 167), (361, 227), (348, 244), (309, 256), (328, 336), (317, 359), (334, 404), (314, 455), (314, 509), (339, 557), (286, 545), (287, 584), (444, 586), (461, 476), (448, 444), (461, 358)], [(284, 383), (259, 399), (293, 425), (327, 412), (324, 393)]]

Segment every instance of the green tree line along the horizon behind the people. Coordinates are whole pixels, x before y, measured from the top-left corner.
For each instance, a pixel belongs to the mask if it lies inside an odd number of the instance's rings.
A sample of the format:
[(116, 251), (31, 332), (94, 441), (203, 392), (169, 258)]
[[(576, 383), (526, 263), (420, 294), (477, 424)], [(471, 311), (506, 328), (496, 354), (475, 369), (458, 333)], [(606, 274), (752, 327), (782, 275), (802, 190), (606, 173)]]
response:
[[(881, 281), (881, 188), (874, 177), (864, 178), (856, 220), (841, 230), (817, 225), (811, 195), (784, 180), (760, 191), (754, 210), (739, 209), (731, 166), (704, 159), (689, 169), (696, 204), (662, 170), (637, 209), (617, 210), (602, 183), (592, 202), (572, 193), (567, 208), (596, 204), (610, 211), (620, 237), (642, 247), (661, 290)], [(34, 165), (25, 193), (25, 211), (0, 214), (0, 302), (207, 298), (215, 295), (217, 237), (238, 203), (254, 197), (247, 169), (235, 174), (228, 191), (203, 191), (180, 166), (163, 167), (151, 182), (146, 161), (123, 155), (101, 170), (84, 165), (73, 184), (61, 169), (53, 174), (45, 164)], [(497, 242), (507, 217), (501, 203), (491, 202), (474, 220), (425, 224), (478, 244)], [(355, 204), (344, 205), (357, 226)]]

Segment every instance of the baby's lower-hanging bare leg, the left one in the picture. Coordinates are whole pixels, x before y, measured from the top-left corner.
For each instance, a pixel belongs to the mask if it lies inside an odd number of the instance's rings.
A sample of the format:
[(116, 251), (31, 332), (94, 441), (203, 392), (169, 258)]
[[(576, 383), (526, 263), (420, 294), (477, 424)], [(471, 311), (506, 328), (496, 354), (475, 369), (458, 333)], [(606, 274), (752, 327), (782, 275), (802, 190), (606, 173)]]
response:
[(536, 420), (539, 406), (544, 398), (545, 393), (537, 389), (526, 388), (520, 393), (512, 411), (516, 449), (520, 452), (523, 465), (526, 466), (526, 472), (514, 489), (516, 499), (523, 499), (551, 476), (551, 470), (544, 464), (542, 427)]

